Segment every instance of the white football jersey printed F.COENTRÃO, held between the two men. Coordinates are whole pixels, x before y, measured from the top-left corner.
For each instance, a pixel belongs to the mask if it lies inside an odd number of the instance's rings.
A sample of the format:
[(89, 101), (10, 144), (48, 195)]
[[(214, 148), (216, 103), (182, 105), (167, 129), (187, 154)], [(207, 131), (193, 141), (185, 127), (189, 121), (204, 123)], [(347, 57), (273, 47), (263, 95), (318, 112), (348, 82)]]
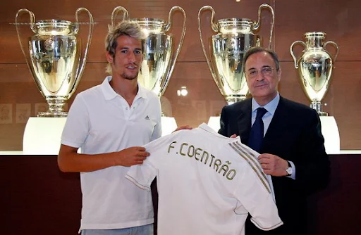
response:
[(279, 227), (273, 188), (257, 152), (202, 124), (145, 145), (150, 153), (126, 177), (150, 190), (157, 177), (159, 235), (244, 234), (248, 212), (259, 229)]

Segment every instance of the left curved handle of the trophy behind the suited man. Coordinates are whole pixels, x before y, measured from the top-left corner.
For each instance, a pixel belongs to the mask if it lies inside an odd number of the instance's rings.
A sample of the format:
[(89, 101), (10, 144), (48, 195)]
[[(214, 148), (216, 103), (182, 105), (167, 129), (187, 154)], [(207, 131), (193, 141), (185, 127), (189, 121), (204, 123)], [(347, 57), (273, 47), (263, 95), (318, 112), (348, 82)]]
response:
[[(208, 68), (209, 68), (209, 70), (211, 70), (211, 74), (214, 79), (214, 82), (216, 82), (216, 85), (219, 88), (219, 90), (222, 91), (223, 88), (221, 87), (221, 84), (219, 84), (219, 81), (217, 80), (216, 73), (214, 72), (215, 71), (214, 67), (210, 61), (210, 57), (207, 55), (206, 47), (204, 46), (204, 42), (203, 42), (202, 23), (201, 23), (200, 15), (202, 14), (202, 11), (204, 11), (204, 10), (212, 11), (211, 27), (214, 32), (218, 32), (219, 25), (214, 22), (214, 15), (216, 13), (214, 12), (214, 9), (212, 8), (212, 6), (203, 6), (202, 8), (200, 8), (200, 11), (198, 11), (198, 31), (200, 32), (200, 43), (202, 44), (202, 50), (203, 50), (204, 56), (206, 58)], [(210, 48), (209, 48), (209, 50), (210, 50)]]

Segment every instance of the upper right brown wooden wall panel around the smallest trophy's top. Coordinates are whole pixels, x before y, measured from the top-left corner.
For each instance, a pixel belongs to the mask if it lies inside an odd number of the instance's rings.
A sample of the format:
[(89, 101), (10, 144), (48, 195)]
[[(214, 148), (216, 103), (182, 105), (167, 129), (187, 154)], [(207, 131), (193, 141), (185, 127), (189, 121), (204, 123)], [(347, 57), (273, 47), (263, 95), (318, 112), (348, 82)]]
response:
[(326, 32), (326, 41), (338, 44), (337, 61), (360, 61), (360, 6), (357, 0), (276, 1), (276, 52), (281, 61), (292, 61), (290, 45), (313, 31)]

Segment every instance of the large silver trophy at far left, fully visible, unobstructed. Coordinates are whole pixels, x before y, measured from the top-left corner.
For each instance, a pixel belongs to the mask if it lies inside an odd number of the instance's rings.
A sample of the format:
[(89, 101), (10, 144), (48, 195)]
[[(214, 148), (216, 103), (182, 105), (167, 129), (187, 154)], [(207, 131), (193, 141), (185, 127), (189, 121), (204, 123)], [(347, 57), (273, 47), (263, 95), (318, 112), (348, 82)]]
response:
[[(82, 55), (82, 46), (78, 31), (80, 23), (78, 14), (81, 11), (89, 15), (89, 33), (85, 52)], [(20, 37), (18, 17), (21, 13), (30, 15), (30, 29), (35, 35), (27, 39), (28, 53), (25, 53)], [(60, 118), (68, 113), (63, 106), (74, 94), (87, 61), (87, 51), (92, 41), (94, 20), (87, 8), (78, 8), (75, 12), (76, 22), (67, 20), (39, 20), (35, 22), (35, 15), (27, 9), (20, 9), (16, 13), (16, 32), (21, 51), (25, 56), (32, 77), (37, 88), (49, 104), (47, 112), (38, 113), (38, 117)]]

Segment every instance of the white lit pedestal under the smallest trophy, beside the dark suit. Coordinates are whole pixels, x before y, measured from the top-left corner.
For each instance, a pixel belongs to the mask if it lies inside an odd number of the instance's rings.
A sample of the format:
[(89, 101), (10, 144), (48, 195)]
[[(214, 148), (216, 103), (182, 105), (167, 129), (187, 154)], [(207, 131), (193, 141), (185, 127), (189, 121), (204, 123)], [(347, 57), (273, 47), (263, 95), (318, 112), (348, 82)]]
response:
[(338, 132), (337, 123), (332, 116), (320, 116), (321, 131), (324, 136), (324, 148), (327, 154), (340, 153), (340, 133)]

